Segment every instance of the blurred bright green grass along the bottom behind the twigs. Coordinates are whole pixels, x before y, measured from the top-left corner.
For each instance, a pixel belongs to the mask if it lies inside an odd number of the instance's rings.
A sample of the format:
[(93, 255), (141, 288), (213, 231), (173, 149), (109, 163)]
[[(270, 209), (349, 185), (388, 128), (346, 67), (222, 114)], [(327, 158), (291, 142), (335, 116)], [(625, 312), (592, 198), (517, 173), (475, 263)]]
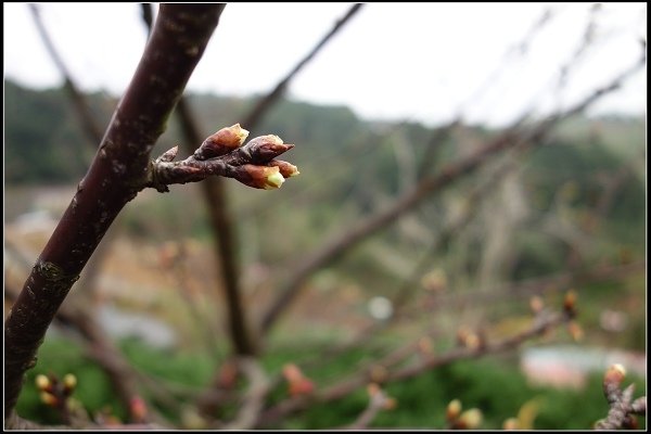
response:
[[(323, 348), (331, 344), (319, 343)], [(187, 400), (181, 404), (192, 405), (191, 396), (199, 396), (205, 384), (209, 384), (216, 369), (214, 358), (205, 353), (153, 349), (132, 340), (123, 342), (122, 348), (139, 371), (148, 372), (158, 384), (184, 391)], [(311, 346), (283, 347), (281, 350), (270, 350), (261, 361), (267, 372), (278, 373), (284, 363), (314, 356), (314, 343)], [(320, 365), (318, 369), (308, 370), (306, 374), (318, 387), (329, 380), (341, 379), (360, 361), (375, 356), (372, 349), (353, 348), (330, 362)], [(49, 339), (41, 347), (39, 363), (28, 371), (17, 405), (18, 413), (43, 423), (59, 423), (56, 414), (39, 401), (34, 379), (39, 373), (54, 373), (62, 378), (68, 372), (78, 378), (78, 387), (73, 397), (82, 403), (92, 414), (110, 411), (118, 418), (125, 417), (125, 409), (116, 400), (104, 373), (84, 356), (74, 341), (61, 337)], [(387, 384), (385, 391), (397, 399), (397, 407), (382, 411), (371, 426), (443, 429), (445, 408), (450, 400), (457, 398), (461, 400), (463, 409), (475, 407), (482, 410), (483, 429), (501, 429), (506, 419), (516, 417), (523, 405), (535, 400), (537, 411), (534, 429), (588, 430), (608, 412), (601, 386), (602, 375), (603, 373), (598, 372), (591, 374), (586, 387), (582, 390), (552, 388), (528, 384), (519, 371), (516, 361), (509, 356), (458, 361), (414, 379)], [(635, 383), (636, 397), (646, 394), (644, 381), (628, 375), (625, 385), (630, 383)], [(286, 384), (281, 382), (271, 394), (271, 399), (283, 397), (286, 397)], [(273, 427), (316, 430), (343, 426), (355, 421), (367, 405), (368, 395), (361, 388), (343, 399), (312, 406)], [(162, 411), (178, 423), (180, 408), (177, 412), (167, 409)], [(640, 418), (640, 427), (644, 425), (646, 419)]]

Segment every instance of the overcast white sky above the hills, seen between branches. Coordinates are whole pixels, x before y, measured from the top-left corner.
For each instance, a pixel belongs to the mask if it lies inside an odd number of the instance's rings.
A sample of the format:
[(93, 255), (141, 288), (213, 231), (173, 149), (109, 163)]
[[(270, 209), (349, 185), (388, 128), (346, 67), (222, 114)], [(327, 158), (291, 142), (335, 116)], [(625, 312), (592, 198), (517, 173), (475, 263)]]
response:
[[(270, 90), (349, 7), (228, 4), (189, 89), (239, 95)], [(552, 91), (561, 65), (579, 44), (590, 7), (368, 3), (292, 82), (290, 95), (345, 104), (365, 118), (433, 125), (461, 111), (470, 122), (502, 125), (534, 102), (542, 112), (571, 103), (638, 59), (638, 40), (647, 37), (646, 3), (604, 3), (595, 44), (561, 97)], [(61, 85), (27, 4), (3, 8), (5, 77), (38, 88)], [(40, 9), (81, 87), (122, 94), (145, 42), (140, 5), (43, 3)], [(513, 50), (508, 55), (545, 9), (553, 18), (526, 56)], [(646, 74), (644, 68), (597, 111), (646, 114)]]

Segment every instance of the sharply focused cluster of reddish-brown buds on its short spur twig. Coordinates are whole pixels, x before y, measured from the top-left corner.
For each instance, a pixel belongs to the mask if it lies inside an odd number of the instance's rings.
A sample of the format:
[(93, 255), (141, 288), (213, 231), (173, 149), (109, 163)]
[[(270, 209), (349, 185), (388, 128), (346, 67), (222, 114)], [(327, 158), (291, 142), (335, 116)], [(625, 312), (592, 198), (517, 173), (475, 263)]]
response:
[(182, 162), (173, 162), (178, 146), (150, 163), (148, 182), (161, 192), (174, 183), (196, 182), (210, 175), (233, 178), (255, 189), (278, 189), (299, 174), (288, 162), (273, 159), (294, 148), (275, 135), (259, 136), (242, 145), (248, 131), (240, 124), (221, 128), (204, 140), (194, 154)]

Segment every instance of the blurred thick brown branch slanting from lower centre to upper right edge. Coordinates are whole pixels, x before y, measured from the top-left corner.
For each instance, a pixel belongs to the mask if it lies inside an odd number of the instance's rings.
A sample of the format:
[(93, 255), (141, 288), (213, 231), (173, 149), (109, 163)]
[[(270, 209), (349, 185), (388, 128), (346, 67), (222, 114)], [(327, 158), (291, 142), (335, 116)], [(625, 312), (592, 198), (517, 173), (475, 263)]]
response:
[(523, 143), (544, 143), (542, 139), (549, 135), (551, 129), (561, 120), (585, 111), (595, 101), (617, 89), (630, 75), (639, 71), (644, 64), (646, 53), (642, 53), (639, 62), (624, 71), (610, 84), (592, 91), (592, 93), (567, 111), (550, 116), (528, 130), (508, 130), (469, 157), (443, 168), (438, 175), (423, 178), (411, 191), (397, 199), (391, 207), (380, 210), (368, 219), (360, 221), (349, 231), (342, 233), (337, 238), (333, 238), (329, 243), (326, 243), (321, 250), (315, 252), (299, 264), (295, 268), (291, 279), (280, 288), (278, 297), (272, 301), (271, 306), (263, 316), (260, 323), (261, 331), (268, 332), (271, 329), (278, 317), (296, 297), (303, 284), (315, 270), (333, 263), (352, 247), (384, 229), (399, 217), (411, 212), (425, 197), (450, 186), (461, 177), (472, 174), (490, 157), (499, 155), (505, 150), (521, 146)]

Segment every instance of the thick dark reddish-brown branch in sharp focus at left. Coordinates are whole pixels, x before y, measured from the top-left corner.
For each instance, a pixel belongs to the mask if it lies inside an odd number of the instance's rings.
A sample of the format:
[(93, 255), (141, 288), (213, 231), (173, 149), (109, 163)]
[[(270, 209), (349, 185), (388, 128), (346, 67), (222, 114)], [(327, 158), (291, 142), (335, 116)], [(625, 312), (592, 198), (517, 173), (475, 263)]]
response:
[(73, 283), (120, 209), (145, 186), (150, 152), (217, 25), (224, 4), (162, 4), (138, 69), (86, 177), (4, 324), (4, 417)]

